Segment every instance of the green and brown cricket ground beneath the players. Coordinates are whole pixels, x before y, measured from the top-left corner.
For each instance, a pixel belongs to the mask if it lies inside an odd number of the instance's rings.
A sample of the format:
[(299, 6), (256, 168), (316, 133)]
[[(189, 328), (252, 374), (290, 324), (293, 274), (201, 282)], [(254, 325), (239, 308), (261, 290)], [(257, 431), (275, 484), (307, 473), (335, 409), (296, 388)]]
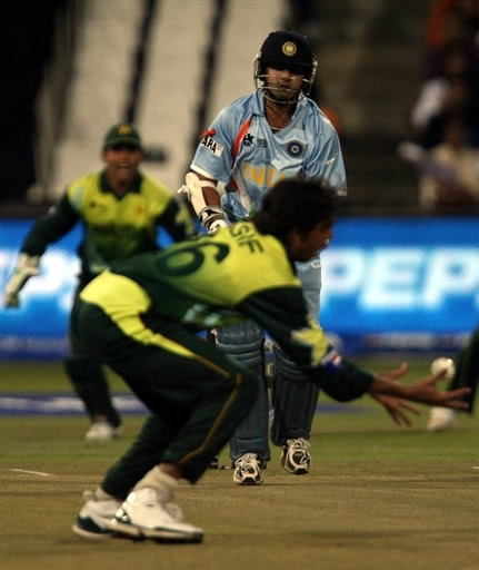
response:
[[(415, 358), (411, 379), (428, 364)], [(127, 391), (117, 377), (111, 385)], [(71, 393), (57, 363), (0, 363), (0, 393), (21, 392)], [(124, 415), (124, 436), (107, 444), (83, 441), (82, 415), (0, 416), (0, 569), (478, 570), (479, 420), (461, 415), (441, 434), (426, 433), (426, 420), (422, 407), (412, 428), (397, 428), (369, 397), (322, 412), (310, 474), (287, 474), (273, 448), (261, 487), (234, 485), (229, 470), (181, 484), (177, 501), (206, 538), (172, 546), (89, 542), (70, 530), (82, 492), (133, 441), (141, 416)]]

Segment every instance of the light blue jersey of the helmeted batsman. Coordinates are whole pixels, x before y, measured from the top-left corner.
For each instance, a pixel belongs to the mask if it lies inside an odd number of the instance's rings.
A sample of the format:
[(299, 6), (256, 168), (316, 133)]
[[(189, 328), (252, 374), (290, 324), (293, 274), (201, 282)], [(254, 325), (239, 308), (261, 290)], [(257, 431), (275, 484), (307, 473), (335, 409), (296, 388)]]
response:
[(338, 134), (316, 102), (301, 97), (289, 125), (271, 130), (260, 91), (224, 107), (203, 132), (191, 163), (198, 174), (223, 183), (229, 222), (255, 214), (263, 193), (285, 177), (322, 177), (346, 195)]

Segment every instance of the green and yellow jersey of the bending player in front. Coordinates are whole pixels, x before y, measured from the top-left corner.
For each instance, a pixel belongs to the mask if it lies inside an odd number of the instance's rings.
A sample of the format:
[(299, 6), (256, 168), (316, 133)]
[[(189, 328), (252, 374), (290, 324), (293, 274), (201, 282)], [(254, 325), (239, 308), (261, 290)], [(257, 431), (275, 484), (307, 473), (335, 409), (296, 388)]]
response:
[(251, 222), (114, 265), (80, 298), (99, 306), (129, 337), (186, 357), (188, 351), (159, 338), (149, 323), (159, 317), (201, 331), (251, 318), (336, 400), (358, 397), (372, 382), (333, 351), (308, 315), (285, 245)]

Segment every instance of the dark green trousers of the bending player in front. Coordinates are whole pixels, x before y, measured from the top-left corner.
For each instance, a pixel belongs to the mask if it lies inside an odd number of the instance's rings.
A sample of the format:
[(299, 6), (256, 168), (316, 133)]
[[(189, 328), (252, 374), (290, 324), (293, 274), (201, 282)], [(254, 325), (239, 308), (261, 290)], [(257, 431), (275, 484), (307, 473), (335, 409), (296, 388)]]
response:
[(140, 315), (138, 323), (144, 331), (127, 334), (121, 318), (113, 322), (94, 304), (79, 298), (72, 309), (76, 342), (114, 370), (151, 411), (101, 483), (119, 499), (162, 462), (180, 465), (183, 478), (194, 483), (258, 393), (258, 382), (246, 366), (194, 332), (152, 313)]

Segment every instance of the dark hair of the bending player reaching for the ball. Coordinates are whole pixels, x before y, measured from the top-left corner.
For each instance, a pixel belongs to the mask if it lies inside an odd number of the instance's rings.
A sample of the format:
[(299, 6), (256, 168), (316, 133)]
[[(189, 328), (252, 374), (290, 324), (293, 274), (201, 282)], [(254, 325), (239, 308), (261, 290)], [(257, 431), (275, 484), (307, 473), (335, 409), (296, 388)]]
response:
[(270, 188), (253, 216), (261, 234), (285, 238), (292, 229), (307, 235), (321, 222), (332, 222), (338, 206), (335, 190), (320, 178), (286, 178)]

